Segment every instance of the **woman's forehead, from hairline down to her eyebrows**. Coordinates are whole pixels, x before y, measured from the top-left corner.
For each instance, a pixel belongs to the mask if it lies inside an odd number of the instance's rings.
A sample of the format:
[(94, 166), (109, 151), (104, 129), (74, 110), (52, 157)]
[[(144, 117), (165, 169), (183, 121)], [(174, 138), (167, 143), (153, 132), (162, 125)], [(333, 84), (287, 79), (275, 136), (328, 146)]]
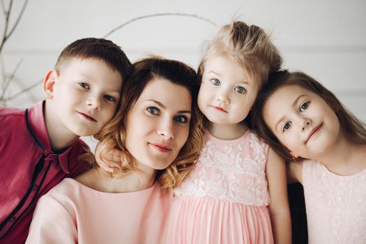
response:
[(153, 78), (146, 84), (137, 102), (144, 100), (156, 100), (164, 103), (165, 106), (178, 102), (185, 109), (190, 109), (192, 104), (188, 88), (160, 77)]

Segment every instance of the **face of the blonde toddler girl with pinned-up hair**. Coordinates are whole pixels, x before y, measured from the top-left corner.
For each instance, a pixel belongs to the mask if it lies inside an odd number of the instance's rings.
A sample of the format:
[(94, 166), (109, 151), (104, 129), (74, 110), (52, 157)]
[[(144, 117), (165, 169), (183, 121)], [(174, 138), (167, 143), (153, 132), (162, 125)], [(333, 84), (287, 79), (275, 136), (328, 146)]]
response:
[(211, 123), (234, 124), (249, 114), (257, 86), (243, 67), (224, 56), (213, 56), (204, 64), (198, 105)]

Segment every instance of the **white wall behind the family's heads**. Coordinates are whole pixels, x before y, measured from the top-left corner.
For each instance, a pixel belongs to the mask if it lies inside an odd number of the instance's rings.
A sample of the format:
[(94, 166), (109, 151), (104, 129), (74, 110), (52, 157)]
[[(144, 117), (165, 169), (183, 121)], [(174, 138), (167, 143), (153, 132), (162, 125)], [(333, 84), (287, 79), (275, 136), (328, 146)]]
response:
[[(22, 3), (23, 0), (13, 3), (12, 23)], [(22, 60), (7, 95), (43, 79), (59, 52), (73, 40), (103, 37), (132, 18), (154, 13), (194, 14), (218, 25), (179, 16), (153, 17), (128, 24), (108, 38), (121, 45), (131, 61), (154, 53), (180, 59), (196, 68), (204, 40), (211, 38), (222, 24), (239, 17), (272, 33), (285, 68), (312, 75), (366, 121), (364, 0), (31, 0), (3, 48), (1, 65), (6, 73), (12, 73)], [(3, 13), (0, 19), (3, 26)], [(42, 98), (38, 85), (30, 93), (10, 100), (8, 106), (27, 107)]]

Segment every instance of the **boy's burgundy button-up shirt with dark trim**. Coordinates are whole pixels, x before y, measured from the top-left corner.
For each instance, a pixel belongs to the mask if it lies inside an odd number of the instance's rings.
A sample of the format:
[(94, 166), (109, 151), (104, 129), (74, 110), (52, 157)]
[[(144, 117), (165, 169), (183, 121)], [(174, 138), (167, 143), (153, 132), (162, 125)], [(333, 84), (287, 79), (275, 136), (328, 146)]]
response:
[(0, 243), (24, 243), (37, 200), (88, 168), (77, 160), (88, 148), (81, 139), (51, 150), (43, 107), (44, 101), (25, 111), (0, 107)]

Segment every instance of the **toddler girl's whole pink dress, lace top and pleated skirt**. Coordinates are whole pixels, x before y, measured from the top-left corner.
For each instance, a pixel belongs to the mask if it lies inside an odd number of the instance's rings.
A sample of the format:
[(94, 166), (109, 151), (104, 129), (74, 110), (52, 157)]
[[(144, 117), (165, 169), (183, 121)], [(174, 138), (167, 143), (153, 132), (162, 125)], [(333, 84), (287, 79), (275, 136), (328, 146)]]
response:
[(267, 153), (250, 130), (234, 140), (206, 132), (195, 169), (174, 190), (168, 243), (273, 243)]

